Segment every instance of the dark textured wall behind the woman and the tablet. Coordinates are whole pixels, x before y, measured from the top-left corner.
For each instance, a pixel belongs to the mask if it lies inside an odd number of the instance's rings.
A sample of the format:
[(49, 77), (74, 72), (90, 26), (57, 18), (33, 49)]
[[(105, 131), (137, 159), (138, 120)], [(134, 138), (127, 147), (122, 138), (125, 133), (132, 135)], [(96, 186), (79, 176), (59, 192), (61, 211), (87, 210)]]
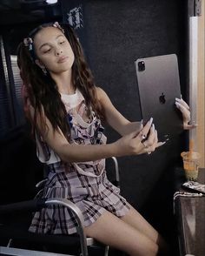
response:
[[(83, 1), (83, 46), (96, 84), (130, 120), (141, 120), (134, 62), (138, 57), (175, 53), (182, 91), (186, 84), (184, 1)], [(151, 116), (151, 113), (150, 113)], [(118, 138), (107, 128), (109, 141)], [(177, 157), (177, 140), (151, 156), (121, 158), (122, 193), (141, 207), (155, 182)]]

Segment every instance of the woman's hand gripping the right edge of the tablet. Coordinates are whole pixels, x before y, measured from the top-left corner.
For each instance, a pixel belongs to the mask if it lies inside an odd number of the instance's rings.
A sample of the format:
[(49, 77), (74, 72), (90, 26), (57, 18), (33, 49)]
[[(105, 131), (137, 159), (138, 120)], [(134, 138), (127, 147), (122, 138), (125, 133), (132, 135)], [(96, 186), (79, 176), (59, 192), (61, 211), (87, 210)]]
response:
[(183, 129), (184, 130), (194, 129), (197, 125), (188, 124), (191, 120), (191, 114), (190, 114), (190, 109), (188, 104), (182, 98), (175, 98), (175, 105), (177, 109), (179, 109), (182, 112)]

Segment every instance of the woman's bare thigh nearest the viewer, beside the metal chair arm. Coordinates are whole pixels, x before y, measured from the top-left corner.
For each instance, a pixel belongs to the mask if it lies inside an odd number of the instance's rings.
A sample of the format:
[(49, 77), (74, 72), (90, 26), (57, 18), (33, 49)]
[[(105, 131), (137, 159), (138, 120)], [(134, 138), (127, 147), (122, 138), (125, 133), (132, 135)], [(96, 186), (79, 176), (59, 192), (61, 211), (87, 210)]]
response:
[(110, 212), (104, 212), (96, 222), (85, 227), (85, 233), (132, 256), (155, 256), (158, 253), (158, 245), (152, 239)]

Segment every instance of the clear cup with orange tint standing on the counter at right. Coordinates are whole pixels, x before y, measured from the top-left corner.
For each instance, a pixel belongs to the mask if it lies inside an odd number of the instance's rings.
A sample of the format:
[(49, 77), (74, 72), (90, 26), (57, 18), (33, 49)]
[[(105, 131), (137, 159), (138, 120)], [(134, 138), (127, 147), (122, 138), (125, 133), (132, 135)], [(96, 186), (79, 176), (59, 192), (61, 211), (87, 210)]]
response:
[(196, 181), (198, 178), (199, 158), (198, 152), (182, 152), (183, 169), (188, 180)]

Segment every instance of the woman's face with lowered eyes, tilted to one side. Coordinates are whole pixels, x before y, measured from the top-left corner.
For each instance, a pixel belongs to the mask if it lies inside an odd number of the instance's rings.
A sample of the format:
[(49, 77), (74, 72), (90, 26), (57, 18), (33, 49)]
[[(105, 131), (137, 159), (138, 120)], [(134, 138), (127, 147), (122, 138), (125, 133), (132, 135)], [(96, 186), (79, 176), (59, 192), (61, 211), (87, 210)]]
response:
[(74, 53), (63, 31), (55, 27), (43, 28), (34, 37), (36, 64), (45, 66), (50, 73), (69, 71)]

